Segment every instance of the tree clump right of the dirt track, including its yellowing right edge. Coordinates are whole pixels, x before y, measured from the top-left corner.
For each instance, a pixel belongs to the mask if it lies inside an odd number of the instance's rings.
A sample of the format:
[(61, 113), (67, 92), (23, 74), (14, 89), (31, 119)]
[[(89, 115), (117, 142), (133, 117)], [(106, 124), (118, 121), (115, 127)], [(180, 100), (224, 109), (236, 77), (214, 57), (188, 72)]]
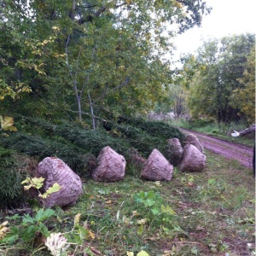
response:
[(255, 119), (255, 60), (253, 34), (205, 42), (198, 55), (184, 61), (184, 84), (194, 117), (207, 116), (226, 124)]

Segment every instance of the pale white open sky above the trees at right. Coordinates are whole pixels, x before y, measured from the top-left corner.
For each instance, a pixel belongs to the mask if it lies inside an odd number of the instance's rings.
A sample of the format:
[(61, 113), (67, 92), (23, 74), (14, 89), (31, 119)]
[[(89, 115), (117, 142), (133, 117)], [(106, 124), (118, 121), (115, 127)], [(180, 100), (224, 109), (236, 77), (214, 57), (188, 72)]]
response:
[(175, 59), (182, 53), (194, 53), (207, 38), (254, 33), (256, 34), (255, 0), (205, 0), (212, 7), (210, 15), (204, 16), (202, 26), (190, 29), (174, 39), (177, 47)]

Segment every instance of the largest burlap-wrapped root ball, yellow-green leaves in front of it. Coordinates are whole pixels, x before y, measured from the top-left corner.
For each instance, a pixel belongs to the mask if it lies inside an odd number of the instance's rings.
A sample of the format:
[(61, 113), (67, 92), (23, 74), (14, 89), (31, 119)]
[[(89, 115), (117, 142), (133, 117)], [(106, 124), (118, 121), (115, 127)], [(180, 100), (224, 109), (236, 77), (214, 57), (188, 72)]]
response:
[(73, 205), (82, 195), (82, 182), (80, 177), (70, 169), (62, 160), (55, 157), (46, 157), (38, 164), (38, 177), (44, 177), (44, 192), (54, 183), (61, 189), (44, 199), (45, 207), (65, 207)]

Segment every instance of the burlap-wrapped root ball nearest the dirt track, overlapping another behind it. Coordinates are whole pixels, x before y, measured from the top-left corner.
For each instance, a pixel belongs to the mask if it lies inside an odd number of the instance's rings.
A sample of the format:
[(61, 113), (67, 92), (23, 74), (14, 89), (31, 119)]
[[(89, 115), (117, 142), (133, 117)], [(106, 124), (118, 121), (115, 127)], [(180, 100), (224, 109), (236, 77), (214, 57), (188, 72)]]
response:
[(192, 144), (187, 144), (183, 148), (183, 159), (179, 165), (182, 172), (199, 172), (206, 166), (207, 157)]

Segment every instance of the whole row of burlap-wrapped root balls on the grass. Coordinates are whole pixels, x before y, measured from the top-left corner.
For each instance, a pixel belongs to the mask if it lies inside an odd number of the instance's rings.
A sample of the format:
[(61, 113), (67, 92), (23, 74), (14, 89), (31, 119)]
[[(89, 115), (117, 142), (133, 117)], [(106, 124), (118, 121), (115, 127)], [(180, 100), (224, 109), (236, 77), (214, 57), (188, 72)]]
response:
[[(206, 165), (206, 155), (203, 147), (194, 135), (185, 139), (182, 147), (177, 138), (167, 141), (166, 154), (169, 160), (156, 148), (144, 159), (136, 150), (131, 150), (131, 160), (136, 166), (141, 166), (141, 177), (153, 181), (170, 181), (172, 179), (173, 166), (178, 166), (182, 172), (202, 171)], [(126, 161), (124, 156), (118, 154), (110, 147), (102, 148), (98, 155), (98, 166), (92, 172), (92, 178), (97, 182), (117, 182), (125, 177)], [(44, 199), (44, 207), (65, 207), (73, 205), (79, 196), (83, 194), (82, 181), (62, 160), (55, 157), (46, 157), (38, 164), (37, 177), (44, 177), (43, 192), (54, 183), (58, 183), (61, 189), (50, 194)]]

